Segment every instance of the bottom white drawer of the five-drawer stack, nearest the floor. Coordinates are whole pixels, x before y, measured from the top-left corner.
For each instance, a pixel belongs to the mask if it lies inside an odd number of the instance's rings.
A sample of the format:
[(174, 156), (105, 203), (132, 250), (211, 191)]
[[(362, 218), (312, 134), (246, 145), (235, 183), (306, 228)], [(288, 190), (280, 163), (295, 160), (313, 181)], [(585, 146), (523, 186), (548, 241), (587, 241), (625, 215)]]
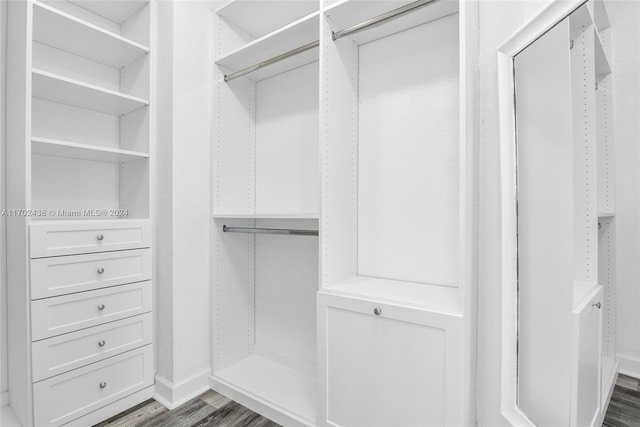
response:
[(153, 384), (145, 346), (33, 385), (34, 424), (59, 426)]

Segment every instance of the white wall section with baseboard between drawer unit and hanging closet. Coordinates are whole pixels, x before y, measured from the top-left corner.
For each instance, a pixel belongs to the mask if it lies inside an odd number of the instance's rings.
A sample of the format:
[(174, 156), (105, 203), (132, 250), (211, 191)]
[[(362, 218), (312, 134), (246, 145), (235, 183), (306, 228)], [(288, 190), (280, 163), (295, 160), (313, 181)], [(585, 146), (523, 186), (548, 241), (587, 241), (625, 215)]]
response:
[(208, 388), (210, 3), (159, 2), (156, 151), (158, 399)]

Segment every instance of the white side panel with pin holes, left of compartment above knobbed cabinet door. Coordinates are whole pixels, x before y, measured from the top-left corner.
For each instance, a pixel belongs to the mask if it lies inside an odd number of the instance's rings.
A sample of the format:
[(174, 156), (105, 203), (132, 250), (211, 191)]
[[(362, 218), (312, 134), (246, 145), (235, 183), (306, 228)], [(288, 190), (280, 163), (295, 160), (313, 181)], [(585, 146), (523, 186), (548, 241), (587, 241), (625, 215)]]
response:
[(332, 41), (320, 17), (321, 283), (353, 277), (358, 265), (358, 46)]

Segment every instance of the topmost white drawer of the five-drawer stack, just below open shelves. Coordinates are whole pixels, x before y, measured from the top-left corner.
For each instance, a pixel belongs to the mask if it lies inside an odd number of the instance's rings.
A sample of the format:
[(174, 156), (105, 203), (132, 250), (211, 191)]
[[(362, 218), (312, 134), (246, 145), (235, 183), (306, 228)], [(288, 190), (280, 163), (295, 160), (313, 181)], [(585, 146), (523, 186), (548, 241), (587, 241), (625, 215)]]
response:
[(31, 258), (139, 249), (151, 246), (147, 219), (31, 223)]

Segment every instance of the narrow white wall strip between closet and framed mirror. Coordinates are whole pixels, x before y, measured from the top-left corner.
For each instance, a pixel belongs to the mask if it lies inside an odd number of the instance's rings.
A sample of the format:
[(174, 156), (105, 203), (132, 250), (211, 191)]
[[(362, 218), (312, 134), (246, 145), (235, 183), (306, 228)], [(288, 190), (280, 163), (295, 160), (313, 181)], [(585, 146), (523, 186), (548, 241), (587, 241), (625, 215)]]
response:
[(500, 414), (501, 262), (497, 48), (547, 0), (480, 1), (478, 260), (478, 425), (508, 425)]

